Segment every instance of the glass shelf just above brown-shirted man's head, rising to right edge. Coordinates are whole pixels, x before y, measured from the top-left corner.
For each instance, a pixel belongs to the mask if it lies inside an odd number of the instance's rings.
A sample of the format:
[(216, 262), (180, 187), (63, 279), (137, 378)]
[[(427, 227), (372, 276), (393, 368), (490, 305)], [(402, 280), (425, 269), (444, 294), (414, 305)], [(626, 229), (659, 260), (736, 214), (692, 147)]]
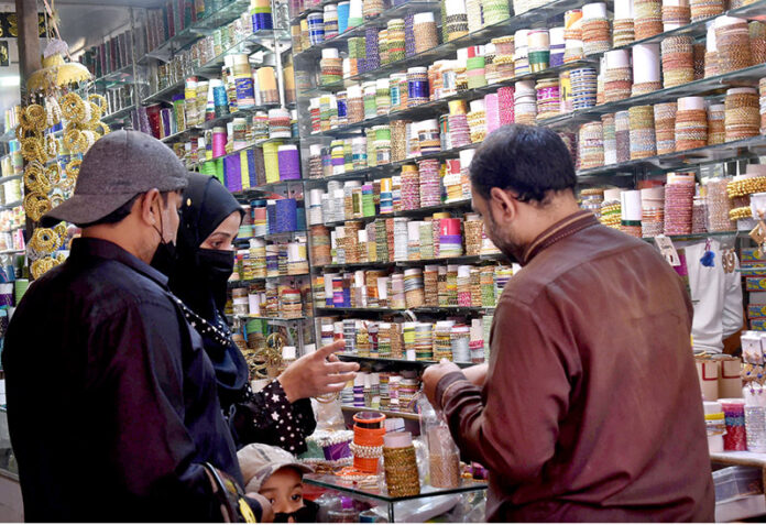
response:
[(616, 111), (627, 110), (634, 106), (655, 105), (671, 101), (679, 97), (702, 96), (716, 89), (727, 89), (732, 87), (756, 87), (758, 80), (766, 76), (766, 64), (758, 64), (746, 67), (733, 73), (724, 73), (709, 78), (701, 78), (688, 84), (671, 88), (658, 89), (657, 91), (628, 97), (614, 102), (606, 102), (576, 110), (569, 113), (559, 114), (549, 119), (537, 121), (537, 125), (547, 128), (563, 128), (579, 125), (586, 122), (599, 120), (602, 116)]

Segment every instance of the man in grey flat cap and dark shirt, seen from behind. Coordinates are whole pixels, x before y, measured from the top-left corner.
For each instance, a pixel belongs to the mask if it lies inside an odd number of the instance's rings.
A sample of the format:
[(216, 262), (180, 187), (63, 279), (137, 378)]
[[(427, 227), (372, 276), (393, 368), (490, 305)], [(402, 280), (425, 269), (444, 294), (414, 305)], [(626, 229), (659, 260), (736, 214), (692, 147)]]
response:
[(30, 286), (2, 353), (26, 521), (218, 521), (203, 463), (241, 485), (201, 339), (150, 266), (172, 252), (186, 177), (160, 141), (113, 132), (44, 218), (83, 237)]

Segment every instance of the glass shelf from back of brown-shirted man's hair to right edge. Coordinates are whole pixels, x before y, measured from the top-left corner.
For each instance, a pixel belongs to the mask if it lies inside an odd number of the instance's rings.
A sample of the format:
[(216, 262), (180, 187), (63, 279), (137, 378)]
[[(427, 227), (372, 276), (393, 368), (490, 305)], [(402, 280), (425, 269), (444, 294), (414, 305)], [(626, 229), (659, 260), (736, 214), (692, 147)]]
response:
[(681, 152), (666, 153), (664, 155), (656, 155), (620, 164), (610, 164), (591, 169), (580, 169), (577, 172), (577, 175), (578, 178), (588, 178), (595, 175), (633, 172), (641, 168), (683, 168), (690, 165), (697, 166), (704, 163), (742, 157), (747, 152), (757, 156), (766, 155), (766, 135), (757, 135), (740, 141), (724, 142), (723, 144), (702, 146)]

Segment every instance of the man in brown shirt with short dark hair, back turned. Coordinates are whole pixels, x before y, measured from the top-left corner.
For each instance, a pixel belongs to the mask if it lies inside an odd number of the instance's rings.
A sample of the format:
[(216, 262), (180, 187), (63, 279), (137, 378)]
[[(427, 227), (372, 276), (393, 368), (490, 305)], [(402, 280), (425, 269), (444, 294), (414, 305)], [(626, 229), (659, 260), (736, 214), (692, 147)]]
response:
[(473, 208), (524, 267), (497, 303), (489, 367), (424, 373), (489, 521), (714, 519), (692, 308), (647, 242), (578, 208), (555, 132), (508, 125), (471, 163)]

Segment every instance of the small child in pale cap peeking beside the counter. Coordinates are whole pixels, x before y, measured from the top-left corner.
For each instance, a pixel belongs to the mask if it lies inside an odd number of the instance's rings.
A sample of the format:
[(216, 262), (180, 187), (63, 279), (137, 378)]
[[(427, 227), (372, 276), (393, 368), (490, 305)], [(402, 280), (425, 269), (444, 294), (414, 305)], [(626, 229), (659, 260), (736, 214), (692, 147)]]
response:
[(237, 452), (244, 492), (266, 497), (274, 510), (275, 523), (313, 523), (318, 505), (303, 499), (303, 474), (314, 469), (271, 445), (251, 444)]

